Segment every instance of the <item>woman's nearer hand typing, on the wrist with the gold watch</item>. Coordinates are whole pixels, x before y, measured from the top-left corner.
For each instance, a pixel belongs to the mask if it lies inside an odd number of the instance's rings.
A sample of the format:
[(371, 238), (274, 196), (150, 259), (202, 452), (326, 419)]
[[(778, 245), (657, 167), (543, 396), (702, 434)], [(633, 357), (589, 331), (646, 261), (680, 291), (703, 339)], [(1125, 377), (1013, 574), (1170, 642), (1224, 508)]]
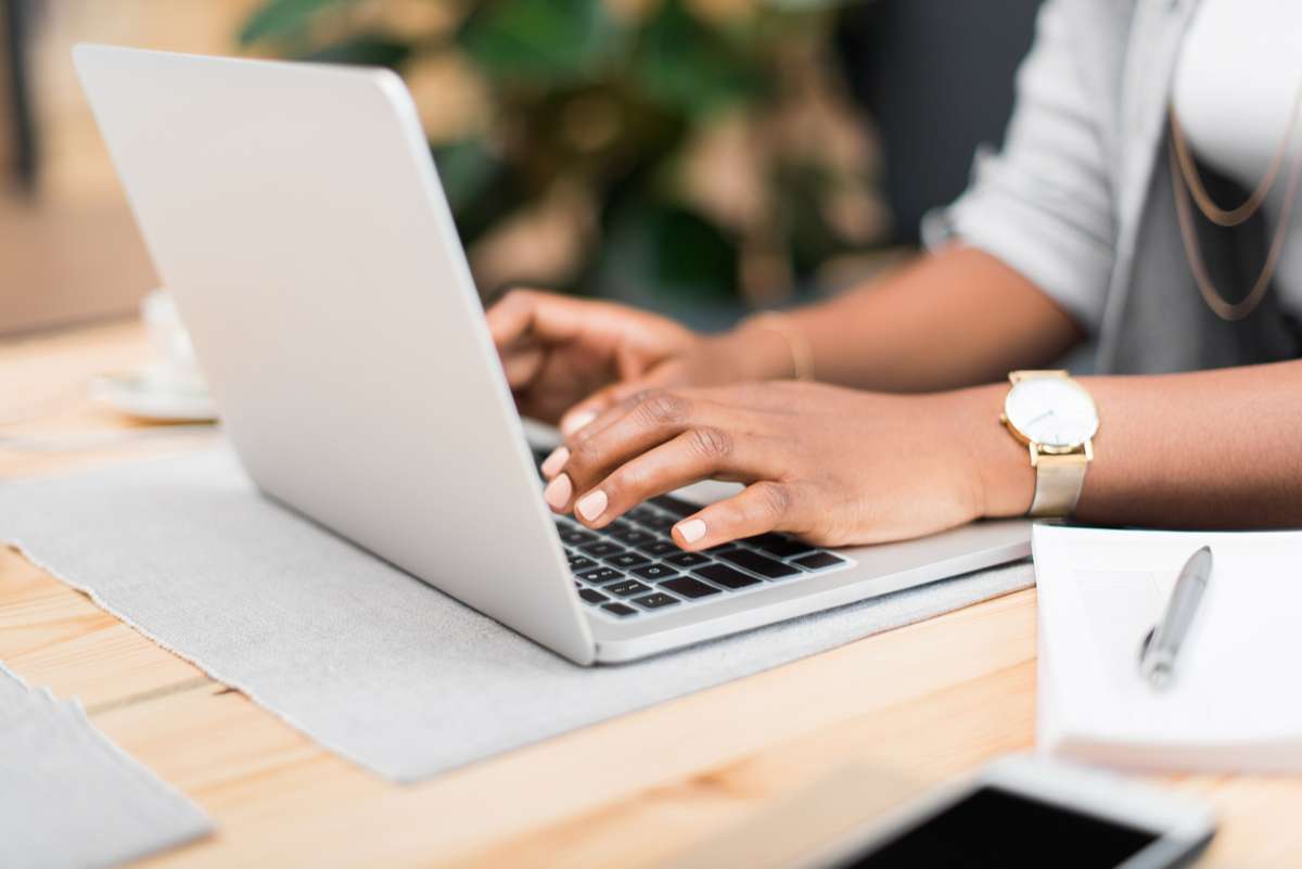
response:
[(546, 498), (600, 528), (697, 480), (747, 484), (674, 526), (674, 540), (693, 550), (766, 531), (871, 544), (1017, 515), (1034, 477), (999, 424), (1003, 393), (885, 395), (797, 382), (642, 392), (547, 459)]

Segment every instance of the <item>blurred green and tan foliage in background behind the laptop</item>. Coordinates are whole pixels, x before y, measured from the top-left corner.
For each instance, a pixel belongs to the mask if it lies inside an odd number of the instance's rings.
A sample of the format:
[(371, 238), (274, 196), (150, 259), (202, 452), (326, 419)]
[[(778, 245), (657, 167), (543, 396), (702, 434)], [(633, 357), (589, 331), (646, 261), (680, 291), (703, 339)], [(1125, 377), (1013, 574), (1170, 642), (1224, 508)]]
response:
[(812, 0), (267, 0), (254, 51), (404, 74), (480, 286), (780, 301), (881, 229)]

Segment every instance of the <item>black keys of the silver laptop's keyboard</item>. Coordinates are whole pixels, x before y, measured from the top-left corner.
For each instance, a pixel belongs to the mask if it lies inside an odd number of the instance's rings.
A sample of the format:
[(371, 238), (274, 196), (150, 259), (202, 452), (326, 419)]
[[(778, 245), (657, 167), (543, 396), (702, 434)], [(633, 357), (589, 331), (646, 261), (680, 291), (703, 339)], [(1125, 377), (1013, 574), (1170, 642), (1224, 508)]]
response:
[[(543, 458), (546, 453), (535, 451), (535, 462)], [(556, 531), (579, 598), (607, 618), (644, 618), (772, 583), (799, 582), (852, 563), (844, 555), (783, 533), (684, 552), (669, 529), (699, 509), (661, 494), (600, 529), (587, 528), (570, 516), (556, 516)]]

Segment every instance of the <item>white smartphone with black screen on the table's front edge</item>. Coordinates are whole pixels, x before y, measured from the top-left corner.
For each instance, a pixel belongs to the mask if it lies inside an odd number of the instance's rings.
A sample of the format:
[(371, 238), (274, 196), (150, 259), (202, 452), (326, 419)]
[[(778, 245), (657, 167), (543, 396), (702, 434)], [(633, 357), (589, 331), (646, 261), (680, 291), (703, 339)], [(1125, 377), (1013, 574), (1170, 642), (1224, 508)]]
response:
[(1181, 795), (1014, 756), (802, 869), (1169, 869), (1193, 862), (1215, 829), (1211, 810)]

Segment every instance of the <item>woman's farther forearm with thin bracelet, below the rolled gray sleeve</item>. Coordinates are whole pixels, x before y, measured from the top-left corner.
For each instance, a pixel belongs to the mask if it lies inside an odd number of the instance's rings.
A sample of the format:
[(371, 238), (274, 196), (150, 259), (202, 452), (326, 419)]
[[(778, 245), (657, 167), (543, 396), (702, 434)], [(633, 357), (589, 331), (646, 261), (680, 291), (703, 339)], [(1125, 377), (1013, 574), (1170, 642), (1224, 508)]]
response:
[[(990, 254), (952, 247), (831, 302), (790, 315), (818, 380), (883, 392), (935, 392), (1043, 367), (1081, 340), (1074, 321)], [(780, 337), (753, 330), (773, 376), (788, 373)]]

